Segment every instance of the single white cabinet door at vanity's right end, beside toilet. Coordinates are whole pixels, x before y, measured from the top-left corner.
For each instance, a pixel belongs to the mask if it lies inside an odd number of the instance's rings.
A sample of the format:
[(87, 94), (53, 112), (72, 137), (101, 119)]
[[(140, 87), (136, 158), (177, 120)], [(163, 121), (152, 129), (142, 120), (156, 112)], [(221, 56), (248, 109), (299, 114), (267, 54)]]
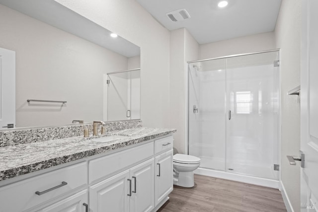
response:
[(173, 190), (173, 150), (163, 152), (155, 159), (155, 205), (157, 206)]

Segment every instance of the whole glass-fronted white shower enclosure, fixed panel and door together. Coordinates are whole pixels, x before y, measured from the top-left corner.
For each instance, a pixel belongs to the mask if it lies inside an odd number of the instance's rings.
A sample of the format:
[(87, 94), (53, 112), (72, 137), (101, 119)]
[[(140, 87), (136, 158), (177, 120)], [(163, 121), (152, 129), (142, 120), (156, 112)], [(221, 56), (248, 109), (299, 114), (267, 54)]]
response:
[(189, 62), (188, 152), (201, 169), (278, 180), (278, 58)]

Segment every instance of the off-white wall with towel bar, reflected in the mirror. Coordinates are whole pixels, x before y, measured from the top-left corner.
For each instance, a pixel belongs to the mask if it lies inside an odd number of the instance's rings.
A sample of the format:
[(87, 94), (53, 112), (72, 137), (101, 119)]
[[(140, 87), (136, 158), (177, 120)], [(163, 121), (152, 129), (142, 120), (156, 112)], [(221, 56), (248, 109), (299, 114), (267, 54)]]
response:
[(0, 28), (0, 47), (16, 52), (16, 127), (103, 118), (103, 74), (126, 70), (126, 57), (3, 5)]

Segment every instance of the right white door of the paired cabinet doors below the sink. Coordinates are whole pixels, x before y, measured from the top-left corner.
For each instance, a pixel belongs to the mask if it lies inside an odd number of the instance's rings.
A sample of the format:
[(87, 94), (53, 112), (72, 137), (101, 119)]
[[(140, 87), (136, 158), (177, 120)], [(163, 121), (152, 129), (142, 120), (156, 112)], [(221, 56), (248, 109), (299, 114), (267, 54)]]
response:
[(154, 174), (154, 158), (130, 169), (130, 179), (132, 180), (130, 212), (151, 212), (154, 210)]

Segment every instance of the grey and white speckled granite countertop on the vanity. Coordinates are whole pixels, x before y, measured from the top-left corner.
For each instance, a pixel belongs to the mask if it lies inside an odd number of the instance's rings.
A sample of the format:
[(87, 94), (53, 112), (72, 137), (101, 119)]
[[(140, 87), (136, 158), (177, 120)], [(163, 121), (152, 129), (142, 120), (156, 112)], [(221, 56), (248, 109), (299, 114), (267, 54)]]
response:
[(174, 129), (138, 127), (108, 132), (107, 136), (127, 136), (109, 142), (92, 141), (96, 137), (90, 135), (89, 138), (80, 136), (0, 147), (0, 181), (174, 132), (176, 132)]

